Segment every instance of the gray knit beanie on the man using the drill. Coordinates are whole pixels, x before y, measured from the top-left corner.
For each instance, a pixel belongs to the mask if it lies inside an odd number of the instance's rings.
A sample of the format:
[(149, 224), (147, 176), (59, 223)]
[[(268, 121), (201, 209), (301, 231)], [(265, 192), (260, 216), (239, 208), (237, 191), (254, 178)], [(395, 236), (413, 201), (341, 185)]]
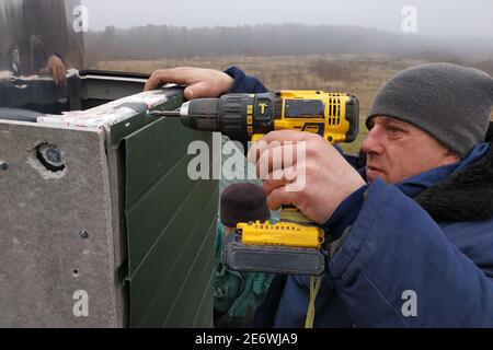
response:
[(366, 124), (376, 116), (408, 121), (467, 155), (484, 141), (493, 106), (493, 79), (450, 63), (428, 63), (393, 77), (377, 94)]

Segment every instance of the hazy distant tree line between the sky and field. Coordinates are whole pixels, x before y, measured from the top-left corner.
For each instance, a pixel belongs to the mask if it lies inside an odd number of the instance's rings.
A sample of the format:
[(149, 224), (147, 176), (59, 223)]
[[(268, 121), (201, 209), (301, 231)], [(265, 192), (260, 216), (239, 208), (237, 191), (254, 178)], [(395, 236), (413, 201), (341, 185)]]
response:
[(231, 55), (493, 54), (492, 38), (438, 38), (358, 26), (290, 23), (199, 28), (147, 25), (121, 30), (108, 26), (104, 31), (87, 33), (84, 40), (89, 62)]

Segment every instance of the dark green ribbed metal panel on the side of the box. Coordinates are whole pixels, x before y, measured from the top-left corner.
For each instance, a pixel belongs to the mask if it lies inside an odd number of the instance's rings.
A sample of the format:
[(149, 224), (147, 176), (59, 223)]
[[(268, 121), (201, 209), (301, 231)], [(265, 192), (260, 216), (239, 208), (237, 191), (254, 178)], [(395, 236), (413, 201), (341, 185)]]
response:
[[(210, 327), (217, 180), (187, 175), (211, 133), (159, 119), (125, 138), (131, 327)], [(209, 158), (209, 166), (213, 163)]]

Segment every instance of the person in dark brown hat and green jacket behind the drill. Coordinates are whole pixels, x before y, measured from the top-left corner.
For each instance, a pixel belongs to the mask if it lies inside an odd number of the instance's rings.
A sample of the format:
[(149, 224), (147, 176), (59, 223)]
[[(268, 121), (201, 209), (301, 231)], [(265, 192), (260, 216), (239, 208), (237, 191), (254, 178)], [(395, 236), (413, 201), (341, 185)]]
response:
[(214, 280), (214, 324), (217, 328), (243, 328), (251, 324), (256, 307), (263, 302), (273, 275), (238, 272), (226, 268), (223, 242), (234, 238), (240, 222), (271, 219), (267, 198), (261, 186), (233, 184), (220, 199), (220, 223), (216, 235), (216, 276)]

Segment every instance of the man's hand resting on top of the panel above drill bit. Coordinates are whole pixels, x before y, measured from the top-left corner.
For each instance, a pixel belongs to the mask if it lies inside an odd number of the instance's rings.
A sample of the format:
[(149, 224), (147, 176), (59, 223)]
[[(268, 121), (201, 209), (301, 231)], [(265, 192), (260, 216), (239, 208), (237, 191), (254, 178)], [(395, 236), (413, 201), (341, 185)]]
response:
[(204, 68), (180, 67), (154, 71), (146, 83), (145, 91), (159, 89), (167, 83), (187, 85), (185, 98), (218, 97), (234, 84), (228, 74)]

